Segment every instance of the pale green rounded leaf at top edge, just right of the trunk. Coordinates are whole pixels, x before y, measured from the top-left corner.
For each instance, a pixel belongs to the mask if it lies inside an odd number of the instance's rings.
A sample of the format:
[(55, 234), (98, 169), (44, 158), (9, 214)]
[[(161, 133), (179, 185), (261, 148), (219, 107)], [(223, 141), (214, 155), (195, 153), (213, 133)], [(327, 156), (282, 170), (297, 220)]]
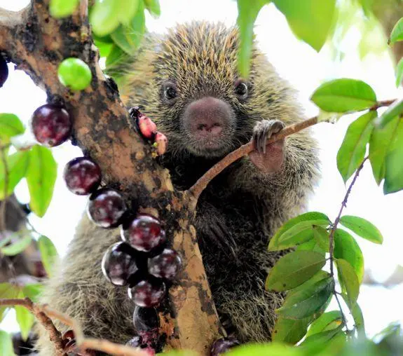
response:
[(120, 1), (97, 0), (90, 12), (90, 23), (97, 36), (106, 36), (118, 27), (120, 22)]

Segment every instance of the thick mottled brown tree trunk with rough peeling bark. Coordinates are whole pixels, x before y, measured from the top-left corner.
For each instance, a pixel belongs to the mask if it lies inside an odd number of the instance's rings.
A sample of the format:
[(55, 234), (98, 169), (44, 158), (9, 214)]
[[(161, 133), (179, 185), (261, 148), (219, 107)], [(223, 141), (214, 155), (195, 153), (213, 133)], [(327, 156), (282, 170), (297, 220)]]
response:
[[(179, 285), (170, 288), (170, 307), (160, 310), (160, 331), (168, 348), (207, 355), (222, 331), (189, 222), (195, 204), (189, 194), (173, 189), (168, 171), (156, 164), (133, 129), (98, 65), (86, 11), (56, 20), (48, 14), (47, 0), (33, 1), (18, 13), (0, 9), (0, 52), (46, 90), (49, 100), (64, 100), (73, 118), (73, 141), (100, 165), (103, 183), (120, 189), (133, 206), (158, 211), (184, 261)], [(73, 93), (57, 80), (57, 67), (66, 57), (79, 57), (90, 66), (89, 88)]]

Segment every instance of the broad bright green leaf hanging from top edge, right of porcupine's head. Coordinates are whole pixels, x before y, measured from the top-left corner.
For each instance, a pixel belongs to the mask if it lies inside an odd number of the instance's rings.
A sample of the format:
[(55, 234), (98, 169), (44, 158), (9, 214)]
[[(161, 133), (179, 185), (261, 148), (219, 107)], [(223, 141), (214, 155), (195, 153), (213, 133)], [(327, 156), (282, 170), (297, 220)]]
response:
[(335, 0), (273, 0), (287, 18), (292, 32), (320, 51), (325, 44), (335, 13)]

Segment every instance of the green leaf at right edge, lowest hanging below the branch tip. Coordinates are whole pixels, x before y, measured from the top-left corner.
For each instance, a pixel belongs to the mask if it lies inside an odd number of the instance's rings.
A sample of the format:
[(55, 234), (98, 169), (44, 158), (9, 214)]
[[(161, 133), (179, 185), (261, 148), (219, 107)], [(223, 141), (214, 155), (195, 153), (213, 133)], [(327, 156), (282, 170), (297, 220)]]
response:
[(395, 193), (403, 189), (403, 120), (400, 119), (397, 132), (385, 158), (385, 182), (383, 193)]

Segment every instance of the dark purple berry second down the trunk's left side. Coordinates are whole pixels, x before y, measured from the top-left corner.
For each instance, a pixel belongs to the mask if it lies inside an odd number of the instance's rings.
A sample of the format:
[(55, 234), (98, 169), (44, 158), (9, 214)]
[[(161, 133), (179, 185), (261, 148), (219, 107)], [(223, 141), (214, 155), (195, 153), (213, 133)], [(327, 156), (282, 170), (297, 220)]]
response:
[(101, 183), (101, 169), (92, 159), (78, 157), (64, 167), (64, 181), (67, 188), (78, 196), (93, 193)]

